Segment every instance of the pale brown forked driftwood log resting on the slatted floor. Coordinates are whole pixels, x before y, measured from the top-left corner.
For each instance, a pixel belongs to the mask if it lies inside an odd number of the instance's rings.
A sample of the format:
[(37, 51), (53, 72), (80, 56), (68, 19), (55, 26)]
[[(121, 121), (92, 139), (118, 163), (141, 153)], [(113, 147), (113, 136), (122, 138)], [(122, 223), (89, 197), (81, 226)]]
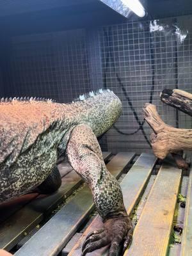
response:
[(171, 153), (179, 168), (188, 169), (182, 151), (192, 150), (192, 129), (177, 129), (165, 124), (153, 104), (145, 104), (143, 115), (154, 131), (150, 141), (155, 156), (164, 159)]

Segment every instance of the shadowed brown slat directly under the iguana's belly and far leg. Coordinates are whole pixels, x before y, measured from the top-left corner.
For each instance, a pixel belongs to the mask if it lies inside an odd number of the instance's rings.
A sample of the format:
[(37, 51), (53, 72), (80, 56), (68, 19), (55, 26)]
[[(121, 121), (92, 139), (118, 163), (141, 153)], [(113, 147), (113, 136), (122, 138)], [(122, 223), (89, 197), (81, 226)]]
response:
[[(65, 170), (66, 172), (67, 170)], [(61, 187), (57, 193), (49, 196), (40, 195), (25, 207), (22, 207), (22, 209), (18, 209), (19, 211), (15, 212), (0, 225), (0, 248), (12, 249), (24, 237), (24, 233), (29, 232), (40, 223), (45, 214), (49, 214), (56, 205), (60, 204), (82, 182), (81, 177), (72, 171), (62, 179)]]

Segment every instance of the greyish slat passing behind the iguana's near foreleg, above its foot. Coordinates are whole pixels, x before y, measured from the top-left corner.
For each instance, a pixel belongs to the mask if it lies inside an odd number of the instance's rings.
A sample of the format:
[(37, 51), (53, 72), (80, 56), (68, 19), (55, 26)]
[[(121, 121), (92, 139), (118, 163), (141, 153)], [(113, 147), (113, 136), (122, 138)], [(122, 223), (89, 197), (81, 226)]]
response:
[[(119, 153), (107, 164), (107, 168), (115, 177), (119, 177), (133, 157), (134, 153)], [(88, 186), (85, 186), (15, 255), (57, 255), (93, 209), (92, 194)]]

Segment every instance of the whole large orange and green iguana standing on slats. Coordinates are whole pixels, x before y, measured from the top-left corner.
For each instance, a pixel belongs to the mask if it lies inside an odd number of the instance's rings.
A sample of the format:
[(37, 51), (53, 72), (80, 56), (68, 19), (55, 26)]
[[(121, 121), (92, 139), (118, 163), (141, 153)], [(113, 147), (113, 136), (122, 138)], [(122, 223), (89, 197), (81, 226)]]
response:
[(67, 156), (72, 168), (92, 190), (102, 230), (90, 234), (82, 255), (110, 244), (109, 255), (124, 251), (132, 237), (122, 191), (108, 172), (97, 137), (108, 131), (122, 112), (118, 97), (109, 90), (81, 95), (61, 104), (42, 99), (1, 99), (0, 202), (38, 187), (56, 191), (61, 177), (56, 161)]

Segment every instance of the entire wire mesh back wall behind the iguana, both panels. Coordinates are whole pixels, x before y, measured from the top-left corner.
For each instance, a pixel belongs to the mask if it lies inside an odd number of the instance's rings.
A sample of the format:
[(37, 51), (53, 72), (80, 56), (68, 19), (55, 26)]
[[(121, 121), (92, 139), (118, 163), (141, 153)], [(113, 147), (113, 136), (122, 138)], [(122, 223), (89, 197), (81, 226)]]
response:
[(103, 148), (150, 150), (146, 102), (156, 104), (167, 124), (192, 126), (191, 118), (159, 100), (163, 88), (192, 92), (191, 16), (134, 21), (12, 40), (12, 92), (71, 101), (80, 93), (110, 88), (123, 113), (100, 141)]

